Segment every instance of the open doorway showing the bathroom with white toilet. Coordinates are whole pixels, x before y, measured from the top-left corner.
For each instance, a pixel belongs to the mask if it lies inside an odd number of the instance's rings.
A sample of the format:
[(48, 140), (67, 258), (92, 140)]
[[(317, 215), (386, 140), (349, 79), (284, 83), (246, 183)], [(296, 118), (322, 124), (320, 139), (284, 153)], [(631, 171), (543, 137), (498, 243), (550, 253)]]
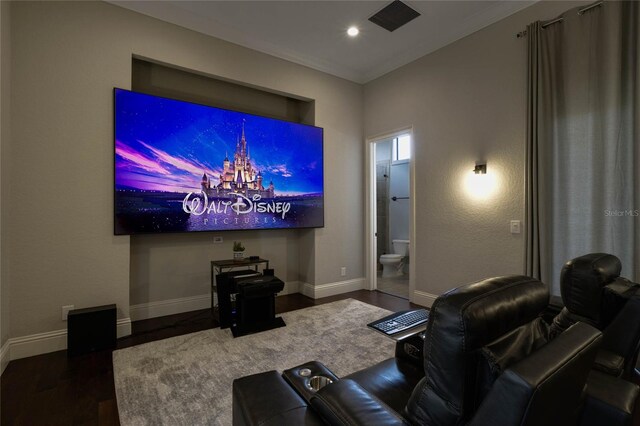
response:
[(370, 288), (411, 300), (412, 132), (405, 129), (368, 142)]

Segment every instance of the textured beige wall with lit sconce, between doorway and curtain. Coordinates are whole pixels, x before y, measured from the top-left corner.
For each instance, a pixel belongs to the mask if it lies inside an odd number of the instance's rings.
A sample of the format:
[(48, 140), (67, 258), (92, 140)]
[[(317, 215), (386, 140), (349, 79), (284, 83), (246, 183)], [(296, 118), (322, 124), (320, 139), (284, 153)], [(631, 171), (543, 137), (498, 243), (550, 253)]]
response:
[[(365, 85), (365, 135), (414, 126), (416, 290), (440, 294), (523, 273), (526, 25), (582, 3), (540, 2)], [(464, 179), (485, 160), (498, 181), (474, 200)]]

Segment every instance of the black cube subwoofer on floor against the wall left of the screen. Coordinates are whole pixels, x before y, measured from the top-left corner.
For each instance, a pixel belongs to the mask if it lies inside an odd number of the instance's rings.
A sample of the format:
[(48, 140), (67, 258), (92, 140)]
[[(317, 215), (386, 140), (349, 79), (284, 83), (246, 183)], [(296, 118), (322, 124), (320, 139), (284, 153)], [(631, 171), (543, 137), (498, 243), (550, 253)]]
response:
[(116, 347), (116, 305), (69, 311), (67, 355), (81, 355)]

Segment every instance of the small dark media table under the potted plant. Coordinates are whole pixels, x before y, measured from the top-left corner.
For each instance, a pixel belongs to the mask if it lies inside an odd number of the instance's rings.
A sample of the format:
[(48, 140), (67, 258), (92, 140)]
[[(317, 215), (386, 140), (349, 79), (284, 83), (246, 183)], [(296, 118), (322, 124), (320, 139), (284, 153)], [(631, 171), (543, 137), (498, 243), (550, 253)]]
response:
[[(233, 300), (232, 294), (235, 295), (236, 289), (233, 288), (231, 279), (218, 283), (218, 275), (228, 274), (230, 277), (237, 278), (243, 274), (249, 274), (253, 271), (259, 274), (260, 265), (264, 265), (264, 269), (269, 269), (269, 261), (267, 259), (258, 258), (250, 259), (227, 259), (211, 261), (211, 313), (213, 317), (220, 323), (220, 328), (231, 327)], [(238, 270), (239, 268), (242, 268)], [(236, 271), (234, 271), (236, 270)], [(237, 272), (237, 274), (233, 274)]]

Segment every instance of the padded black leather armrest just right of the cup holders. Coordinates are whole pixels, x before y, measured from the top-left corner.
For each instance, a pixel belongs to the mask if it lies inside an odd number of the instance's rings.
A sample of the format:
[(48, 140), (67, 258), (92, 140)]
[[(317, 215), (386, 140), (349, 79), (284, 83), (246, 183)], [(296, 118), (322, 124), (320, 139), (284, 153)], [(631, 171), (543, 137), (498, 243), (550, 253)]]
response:
[(350, 379), (320, 389), (311, 406), (329, 425), (407, 425), (400, 414)]

